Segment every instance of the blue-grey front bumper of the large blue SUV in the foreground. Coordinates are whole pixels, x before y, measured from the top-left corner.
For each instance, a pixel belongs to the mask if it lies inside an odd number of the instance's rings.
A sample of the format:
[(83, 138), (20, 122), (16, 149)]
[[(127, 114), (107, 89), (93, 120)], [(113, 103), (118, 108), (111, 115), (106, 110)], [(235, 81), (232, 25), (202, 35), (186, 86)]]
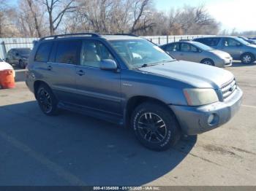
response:
[[(175, 106), (170, 109), (176, 114), (184, 134), (196, 135), (228, 122), (241, 106), (243, 92), (238, 87), (226, 101), (219, 101), (205, 106)], [(214, 114), (214, 123), (208, 122), (208, 117)]]

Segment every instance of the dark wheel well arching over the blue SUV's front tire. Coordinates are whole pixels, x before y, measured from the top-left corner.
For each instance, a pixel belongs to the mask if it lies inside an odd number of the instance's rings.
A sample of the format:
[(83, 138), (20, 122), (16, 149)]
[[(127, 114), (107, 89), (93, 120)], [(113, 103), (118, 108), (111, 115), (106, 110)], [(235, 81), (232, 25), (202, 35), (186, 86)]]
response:
[(135, 108), (146, 101), (151, 101), (151, 102), (160, 104), (162, 106), (165, 106), (167, 109), (170, 110), (170, 112), (172, 112), (171, 109), (167, 107), (167, 105), (164, 102), (159, 101), (156, 98), (151, 98), (147, 96), (135, 96), (135, 97), (129, 98), (129, 100), (127, 101), (126, 116), (125, 116), (127, 126), (129, 126), (129, 122), (132, 117), (132, 112), (135, 110)]

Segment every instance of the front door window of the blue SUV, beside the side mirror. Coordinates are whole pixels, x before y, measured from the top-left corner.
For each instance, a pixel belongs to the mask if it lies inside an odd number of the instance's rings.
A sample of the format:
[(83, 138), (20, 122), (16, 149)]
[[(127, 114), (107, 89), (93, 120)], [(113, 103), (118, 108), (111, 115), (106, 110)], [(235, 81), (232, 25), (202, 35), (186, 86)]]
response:
[(80, 65), (99, 68), (102, 60), (114, 60), (107, 47), (100, 42), (83, 42)]

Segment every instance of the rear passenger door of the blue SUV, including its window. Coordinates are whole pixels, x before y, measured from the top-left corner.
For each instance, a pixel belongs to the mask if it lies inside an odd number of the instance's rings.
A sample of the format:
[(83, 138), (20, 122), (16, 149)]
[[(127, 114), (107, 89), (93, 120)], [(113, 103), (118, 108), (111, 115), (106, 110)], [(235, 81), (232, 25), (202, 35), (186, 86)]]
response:
[(59, 100), (75, 103), (76, 66), (80, 63), (81, 40), (65, 39), (53, 44), (50, 61), (46, 64), (48, 78)]

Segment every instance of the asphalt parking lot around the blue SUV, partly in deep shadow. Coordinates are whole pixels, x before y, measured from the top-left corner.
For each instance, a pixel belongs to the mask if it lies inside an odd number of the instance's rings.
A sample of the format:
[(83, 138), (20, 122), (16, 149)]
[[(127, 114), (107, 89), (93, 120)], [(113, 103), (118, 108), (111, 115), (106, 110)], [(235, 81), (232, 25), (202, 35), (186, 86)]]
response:
[(165, 152), (128, 128), (72, 112), (47, 117), (16, 70), (0, 90), (0, 185), (256, 185), (256, 63), (227, 68), (244, 90), (226, 125)]

